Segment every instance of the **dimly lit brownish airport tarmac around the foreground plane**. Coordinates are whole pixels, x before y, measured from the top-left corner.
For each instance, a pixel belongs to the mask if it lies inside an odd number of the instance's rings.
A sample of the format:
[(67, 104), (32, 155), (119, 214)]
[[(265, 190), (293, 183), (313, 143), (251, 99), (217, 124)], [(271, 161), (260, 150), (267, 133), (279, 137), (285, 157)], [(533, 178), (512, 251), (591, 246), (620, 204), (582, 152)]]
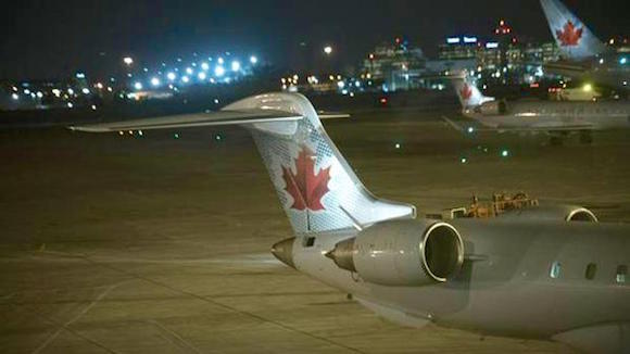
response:
[[(325, 126), (368, 189), (420, 213), (526, 191), (630, 222), (627, 131), (553, 147), (464, 136), (440, 119), (453, 112), (369, 109)], [(248, 132), (177, 132), (0, 130), (0, 352), (572, 352), (403, 328), (280, 264), (269, 246), (291, 230)]]

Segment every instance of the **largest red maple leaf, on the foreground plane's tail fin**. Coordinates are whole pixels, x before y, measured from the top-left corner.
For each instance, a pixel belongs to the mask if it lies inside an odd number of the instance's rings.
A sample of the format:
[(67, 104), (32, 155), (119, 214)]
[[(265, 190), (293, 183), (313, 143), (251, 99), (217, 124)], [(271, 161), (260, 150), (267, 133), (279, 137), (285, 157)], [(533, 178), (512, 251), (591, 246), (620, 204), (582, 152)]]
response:
[(282, 178), (287, 185), (285, 189), (293, 197), (291, 208), (314, 212), (325, 210), (322, 198), (328, 192), (330, 167), (320, 169), (315, 175), (315, 155), (308, 148), (303, 147), (295, 159), (295, 170), (297, 174), (293, 175), (291, 167), (282, 166)]

